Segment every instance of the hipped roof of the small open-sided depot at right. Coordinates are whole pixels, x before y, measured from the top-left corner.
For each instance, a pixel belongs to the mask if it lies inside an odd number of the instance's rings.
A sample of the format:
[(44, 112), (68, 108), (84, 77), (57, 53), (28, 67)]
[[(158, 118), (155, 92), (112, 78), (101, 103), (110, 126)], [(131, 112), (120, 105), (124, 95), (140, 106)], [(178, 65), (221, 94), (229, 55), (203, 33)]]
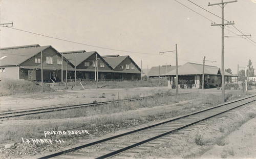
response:
[[(205, 65), (204, 73), (208, 75), (221, 75), (221, 71), (217, 66)], [(203, 64), (187, 62), (178, 68), (179, 75), (202, 75)], [(176, 75), (176, 69), (163, 75)], [(225, 72), (226, 76), (235, 76)]]

